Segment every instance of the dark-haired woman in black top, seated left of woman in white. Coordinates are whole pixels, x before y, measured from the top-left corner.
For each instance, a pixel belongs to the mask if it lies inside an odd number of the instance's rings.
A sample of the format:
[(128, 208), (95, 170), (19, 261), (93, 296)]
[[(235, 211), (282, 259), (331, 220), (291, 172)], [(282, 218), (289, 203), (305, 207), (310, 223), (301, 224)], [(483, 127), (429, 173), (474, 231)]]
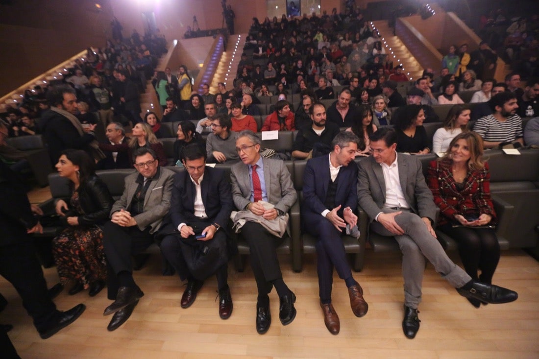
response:
[(397, 152), (424, 155), (431, 151), (431, 141), (423, 127), (425, 112), (421, 105), (407, 105), (395, 119)]

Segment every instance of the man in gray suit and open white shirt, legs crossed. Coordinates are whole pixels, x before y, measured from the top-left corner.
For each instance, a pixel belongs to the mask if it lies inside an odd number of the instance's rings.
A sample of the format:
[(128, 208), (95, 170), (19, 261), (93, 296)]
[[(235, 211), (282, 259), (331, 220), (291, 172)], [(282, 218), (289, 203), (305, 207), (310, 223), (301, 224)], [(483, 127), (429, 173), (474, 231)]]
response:
[(360, 162), (357, 197), (370, 218), (370, 230), (395, 236), (403, 252), (403, 330), (412, 339), (419, 330), (417, 307), (425, 257), (460, 295), (483, 303), (507, 303), (517, 293), (495, 285), (476, 282), (447, 257), (436, 239), (432, 223), (436, 218), (432, 192), (425, 183), (416, 156), (397, 155), (395, 130), (382, 127), (370, 136), (372, 156)]

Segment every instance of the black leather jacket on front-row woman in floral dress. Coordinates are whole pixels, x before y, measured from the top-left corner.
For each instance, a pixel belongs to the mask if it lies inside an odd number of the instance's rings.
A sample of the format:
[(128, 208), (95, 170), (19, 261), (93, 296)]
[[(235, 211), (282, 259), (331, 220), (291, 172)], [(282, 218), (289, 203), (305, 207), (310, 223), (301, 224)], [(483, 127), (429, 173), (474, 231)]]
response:
[(85, 215), (79, 216), (80, 225), (101, 224), (108, 219), (114, 199), (110, 195), (107, 185), (98, 177), (88, 181), (84, 188), (86, 197), (83, 205)]

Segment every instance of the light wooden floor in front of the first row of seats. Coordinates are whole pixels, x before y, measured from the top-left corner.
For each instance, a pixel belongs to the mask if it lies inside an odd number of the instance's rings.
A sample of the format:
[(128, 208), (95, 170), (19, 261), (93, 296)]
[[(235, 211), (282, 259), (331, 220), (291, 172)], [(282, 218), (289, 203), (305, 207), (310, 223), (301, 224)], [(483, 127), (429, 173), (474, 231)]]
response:
[[(458, 261), (456, 253), (451, 256)], [(0, 279), (0, 292), (9, 300), (0, 323), (24, 359), (61, 358), (539, 358), (539, 263), (520, 250), (502, 253), (496, 284), (519, 292), (516, 302), (475, 309), (455, 292), (432, 265), (423, 281), (421, 328), (416, 339), (403, 335), (403, 283), (398, 253), (367, 252), (365, 269), (355, 273), (364, 288), (369, 313), (356, 318), (347, 290), (335, 275), (333, 302), (341, 318), (341, 333), (324, 327), (318, 304), (314, 256), (303, 272), (294, 273), (288, 257), (281, 258), (284, 279), (297, 295), (298, 315), (291, 325), (279, 322), (277, 294), (272, 292), (273, 323), (265, 335), (255, 327), (256, 287), (249, 267), (237, 273), (229, 267), (234, 310), (219, 319), (215, 278), (206, 281), (194, 305), (179, 307), (184, 287), (177, 277), (161, 276), (160, 257), (153, 256), (135, 280), (146, 295), (130, 319), (107, 332), (110, 303), (106, 289), (95, 298), (86, 292), (55, 300), (59, 309), (79, 302), (86, 312), (50, 339), (41, 340), (15, 290)], [(54, 268), (45, 270), (49, 286), (58, 281)], [(0, 353), (0, 357), (1, 357)]]

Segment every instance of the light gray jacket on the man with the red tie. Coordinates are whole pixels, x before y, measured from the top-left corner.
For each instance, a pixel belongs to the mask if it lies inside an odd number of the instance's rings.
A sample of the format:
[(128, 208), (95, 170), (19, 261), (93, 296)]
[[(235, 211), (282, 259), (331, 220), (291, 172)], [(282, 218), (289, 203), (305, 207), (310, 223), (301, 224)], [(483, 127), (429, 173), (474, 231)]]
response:
[[(262, 164), (268, 202), (275, 205), (276, 209), (288, 212), (298, 198), (290, 172), (281, 160), (262, 158)], [(244, 210), (251, 203), (251, 178), (248, 165), (243, 162), (234, 164), (230, 180), (234, 204), (239, 210)]]

